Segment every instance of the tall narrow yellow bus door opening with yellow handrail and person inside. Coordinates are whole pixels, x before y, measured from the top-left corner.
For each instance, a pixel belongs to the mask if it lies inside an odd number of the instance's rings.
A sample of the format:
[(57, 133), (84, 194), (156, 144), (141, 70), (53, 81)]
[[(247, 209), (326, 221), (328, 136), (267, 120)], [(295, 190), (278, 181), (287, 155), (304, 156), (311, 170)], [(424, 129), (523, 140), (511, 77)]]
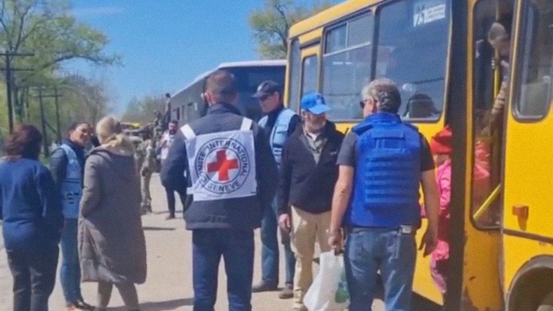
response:
[(474, 7), (472, 214), (478, 228), (499, 225), (513, 8), (509, 0)]

